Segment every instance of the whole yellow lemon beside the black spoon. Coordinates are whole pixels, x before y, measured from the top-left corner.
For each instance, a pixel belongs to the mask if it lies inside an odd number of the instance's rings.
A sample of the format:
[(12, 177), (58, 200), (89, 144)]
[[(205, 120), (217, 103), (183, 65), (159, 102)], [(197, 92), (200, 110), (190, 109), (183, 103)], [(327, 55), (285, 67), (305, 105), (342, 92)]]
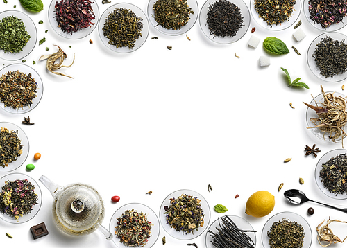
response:
[(264, 217), (273, 210), (275, 197), (268, 191), (257, 191), (251, 195), (246, 203), (246, 214), (254, 217)]

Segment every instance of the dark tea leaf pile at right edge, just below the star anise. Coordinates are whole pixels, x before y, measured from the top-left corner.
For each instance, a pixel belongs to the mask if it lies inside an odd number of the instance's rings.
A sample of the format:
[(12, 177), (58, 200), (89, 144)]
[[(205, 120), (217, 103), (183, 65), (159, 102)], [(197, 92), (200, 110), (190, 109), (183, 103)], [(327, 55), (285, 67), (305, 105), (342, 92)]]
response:
[(335, 195), (347, 193), (347, 157), (346, 153), (332, 157), (322, 164), (319, 178), (324, 188)]

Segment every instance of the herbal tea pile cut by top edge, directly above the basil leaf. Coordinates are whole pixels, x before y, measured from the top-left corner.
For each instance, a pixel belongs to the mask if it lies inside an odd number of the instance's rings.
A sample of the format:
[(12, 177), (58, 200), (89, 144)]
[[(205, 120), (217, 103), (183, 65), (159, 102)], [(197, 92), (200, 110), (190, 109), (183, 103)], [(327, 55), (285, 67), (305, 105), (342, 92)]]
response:
[(254, 0), (254, 8), (259, 17), (271, 26), (289, 21), (296, 0)]

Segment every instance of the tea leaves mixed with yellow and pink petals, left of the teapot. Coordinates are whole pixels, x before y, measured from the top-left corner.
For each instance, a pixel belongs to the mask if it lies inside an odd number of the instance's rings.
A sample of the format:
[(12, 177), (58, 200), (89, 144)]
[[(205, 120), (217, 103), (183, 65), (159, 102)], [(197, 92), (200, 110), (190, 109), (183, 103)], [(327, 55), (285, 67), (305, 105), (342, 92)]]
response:
[(18, 220), (24, 214), (31, 213), (37, 198), (35, 186), (28, 179), (5, 181), (0, 191), (0, 212)]

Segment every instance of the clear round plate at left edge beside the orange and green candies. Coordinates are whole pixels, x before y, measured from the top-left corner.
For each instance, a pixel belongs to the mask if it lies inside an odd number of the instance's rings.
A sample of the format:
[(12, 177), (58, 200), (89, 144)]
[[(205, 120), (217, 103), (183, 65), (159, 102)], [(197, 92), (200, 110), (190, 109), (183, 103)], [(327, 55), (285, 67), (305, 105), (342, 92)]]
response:
[(18, 130), (17, 136), (21, 141), (21, 145), (23, 145), (22, 155), (17, 157), (16, 161), (12, 161), (12, 163), (8, 163), (8, 166), (6, 167), (0, 166), (0, 172), (9, 172), (12, 170), (16, 170), (17, 168), (22, 166), (24, 161), (26, 161), (26, 158), (28, 157), (28, 154), (29, 154), (29, 141), (25, 132), (15, 124), (3, 122), (3, 123), (0, 123), (0, 127), (7, 128), (8, 131)]

